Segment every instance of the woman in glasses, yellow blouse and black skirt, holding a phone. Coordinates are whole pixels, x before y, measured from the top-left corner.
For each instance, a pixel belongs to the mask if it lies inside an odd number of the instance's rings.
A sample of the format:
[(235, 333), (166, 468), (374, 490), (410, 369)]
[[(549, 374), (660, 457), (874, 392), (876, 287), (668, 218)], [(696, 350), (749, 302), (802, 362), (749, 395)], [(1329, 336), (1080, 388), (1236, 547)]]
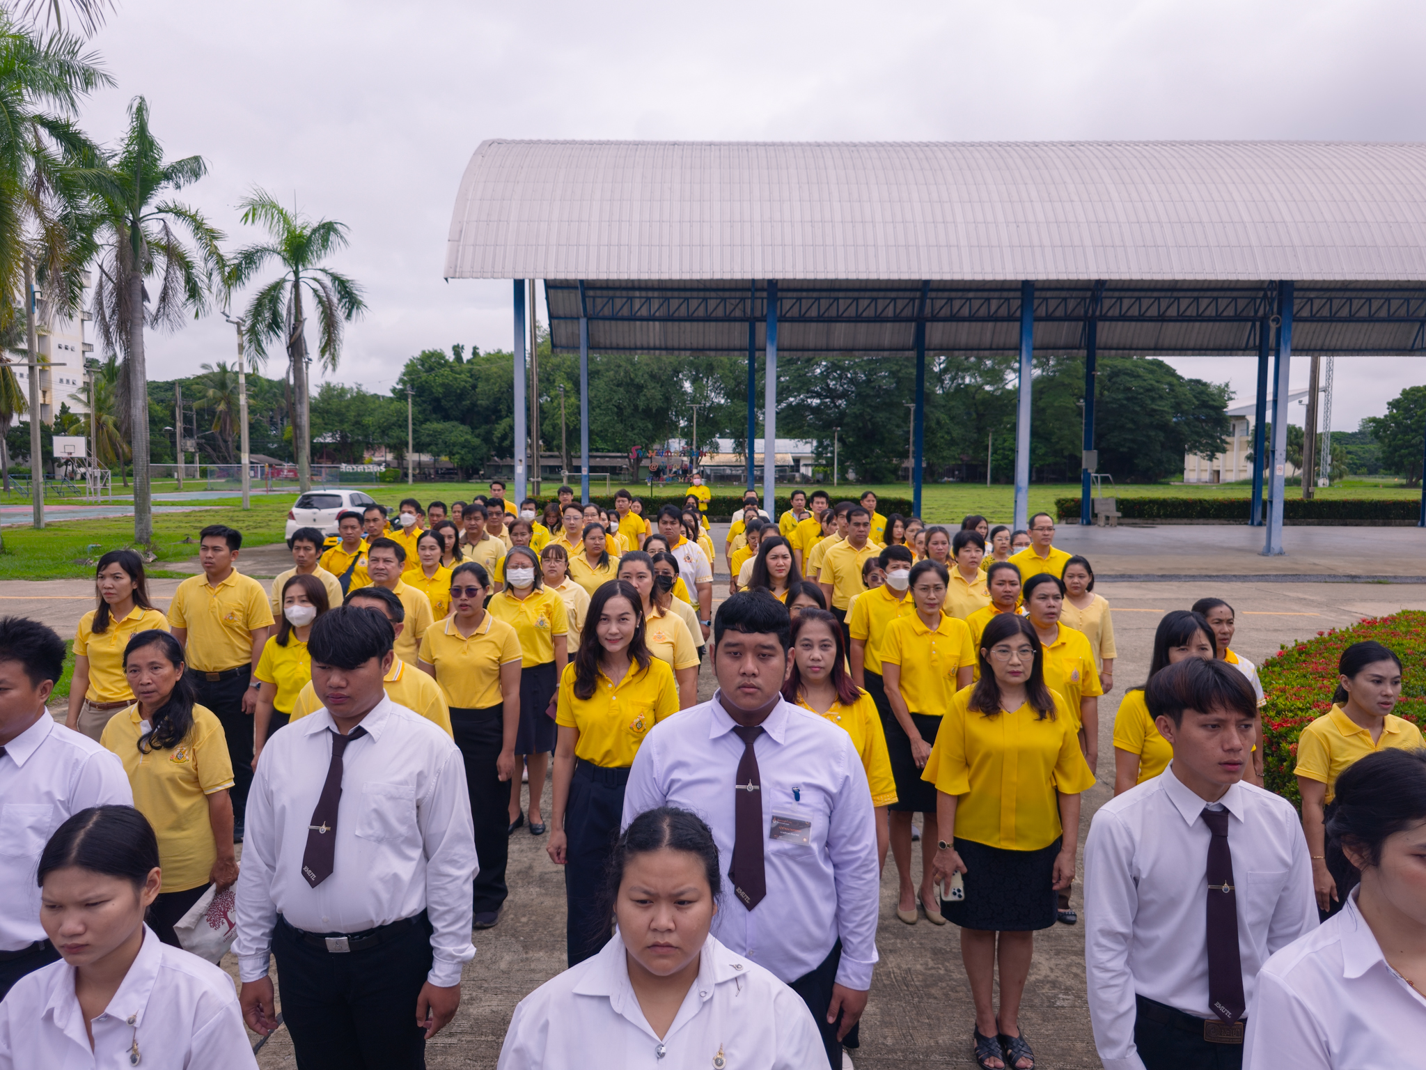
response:
[(1025, 1070), (1035, 1053), (1020, 1030), (1020, 1000), (1034, 932), (1055, 924), (1055, 892), (1074, 880), (1079, 792), (1094, 773), (1064, 699), (1045, 686), (1035, 626), (997, 616), (978, 658), (980, 682), (955, 693), (923, 773), (935, 785), (937, 827), (951, 836), (937, 845), (931, 875), (950, 892), (941, 912), (961, 927), (975, 1061)]

